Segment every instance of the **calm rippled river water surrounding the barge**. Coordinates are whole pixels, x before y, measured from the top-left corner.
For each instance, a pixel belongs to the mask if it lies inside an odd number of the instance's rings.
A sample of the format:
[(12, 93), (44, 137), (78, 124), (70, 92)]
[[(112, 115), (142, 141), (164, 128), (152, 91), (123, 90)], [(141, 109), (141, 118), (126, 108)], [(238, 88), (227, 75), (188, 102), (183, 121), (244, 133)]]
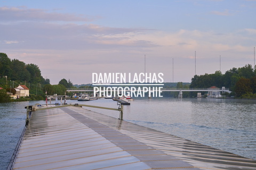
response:
[[(54, 101), (55, 102), (55, 101)], [(26, 105), (45, 101), (0, 104), (0, 167), (6, 169), (25, 126)], [(117, 108), (111, 99), (67, 100)], [(256, 100), (135, 98), (124, 106), (124, 120), (147, 126), (256, 160)], [(118, 118), (117, 111), (87, 108)]]

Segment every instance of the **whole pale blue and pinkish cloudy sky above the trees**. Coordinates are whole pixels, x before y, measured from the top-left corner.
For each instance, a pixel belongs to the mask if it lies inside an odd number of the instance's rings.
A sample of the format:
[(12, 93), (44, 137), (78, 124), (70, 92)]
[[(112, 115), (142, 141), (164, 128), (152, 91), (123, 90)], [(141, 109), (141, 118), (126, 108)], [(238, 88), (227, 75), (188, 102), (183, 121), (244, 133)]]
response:
[(0, 52), (51, 84), (145, 65), (164, 82), (191, 82), (254, 66), (255, 16), (256, 0), (0, 0)]

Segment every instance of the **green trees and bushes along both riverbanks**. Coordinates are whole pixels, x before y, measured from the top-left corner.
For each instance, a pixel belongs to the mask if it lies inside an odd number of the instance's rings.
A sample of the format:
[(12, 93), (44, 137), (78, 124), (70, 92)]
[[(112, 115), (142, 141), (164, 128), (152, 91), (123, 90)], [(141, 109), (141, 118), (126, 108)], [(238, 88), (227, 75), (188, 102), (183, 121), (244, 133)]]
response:
[[(15, 95), (14, 88), (25, 84), (29, 88), (29, 96), (11, 99), (10, 93)], [(229, 88), (230, 94), (221, 94), (221, 98), (256, 99), (256, 69), (247, 64), (238, 69), (232, 69), (222, 74), (194, 75), (191, 83), (164, 83), (163, 88), (210, 88), (212, 86)], [(45, 95), (73, 95), (66, 92), (67, 88), (92, 88), (91, 84), (75, 84), (70, 80), (61, 79), (58, 84), (50, 84), (50, 79), (44, 79), (41, 70), (35, 64), (26, 64), (17, 59), (11, 60), (5, 53), (0, 53), (0, 103), (12, 101), (45, 100)], [(9, 94), (7, 94), (9, 92)], [(179, 92), (163, 92), (164, 97), (177, 98)], [(196, 98), (197, 92), (183, 92), (183, 98)], [(202, 98), (207, 97), (202, 92)]]

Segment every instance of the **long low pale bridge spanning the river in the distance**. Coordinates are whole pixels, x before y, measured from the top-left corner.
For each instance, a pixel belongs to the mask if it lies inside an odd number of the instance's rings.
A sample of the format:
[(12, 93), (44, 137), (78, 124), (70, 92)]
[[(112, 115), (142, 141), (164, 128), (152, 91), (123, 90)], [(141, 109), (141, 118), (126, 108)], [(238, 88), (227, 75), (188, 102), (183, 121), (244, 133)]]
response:
[[(102, 87), (103, 88), (103, 87)], [(105, 87), (106, 88), (106, 87)], [(138, 91), (139, 88), (136, 88), (135, 91)], [(160, 90), (159, 87), (155, 89), (155, 91)], [(68, 88), (67, 92), (93, 92), (93, 88)], [(120, 91), (118, 89), (115, 89), (115, 91)], [(126, 89), (125, 91), (130, 92), (131, 89)], [(194, 92), (208, 92), (209, 96), (214, 96), (215, 94), (218, 94), (220, 92), (228, 92), (230, 93), (228, 88), (222, 87), (222, 88), (161, 88), (162, 92), (165, 91), (174, 91), (179, 92), (179, 98), (182, 98), (182, 92), (185, 91), (194, 91)]]

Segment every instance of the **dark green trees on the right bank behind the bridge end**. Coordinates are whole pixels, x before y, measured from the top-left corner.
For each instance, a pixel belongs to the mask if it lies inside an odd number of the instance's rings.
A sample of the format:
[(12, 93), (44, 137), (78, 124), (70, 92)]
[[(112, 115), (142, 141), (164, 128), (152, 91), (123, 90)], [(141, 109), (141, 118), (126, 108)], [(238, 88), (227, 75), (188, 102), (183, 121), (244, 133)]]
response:
[[(229, 96), (256, 98), (256, 69), (246, 64), (238, 69), (233, 67), (225, 74), (216, 71), (214, 74), (195, 75), (191, 79), (189, 88), (210, 88), (212, 86), (229, 88), (232, 91)], [(191, 96), (195, 96), (195, 93), (191, 92)]]

